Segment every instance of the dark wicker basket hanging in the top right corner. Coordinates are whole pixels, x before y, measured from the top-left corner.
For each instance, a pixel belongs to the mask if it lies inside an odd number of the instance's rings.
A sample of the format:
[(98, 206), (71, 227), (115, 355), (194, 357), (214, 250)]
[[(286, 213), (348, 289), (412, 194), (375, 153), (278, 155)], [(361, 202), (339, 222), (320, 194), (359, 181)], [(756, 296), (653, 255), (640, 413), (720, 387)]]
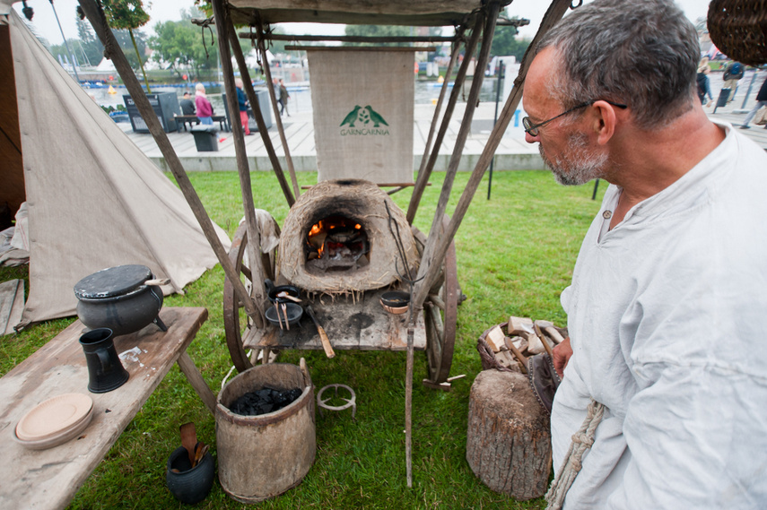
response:
[(767, 64), (767, 0), (711, 0), (708, 26), (711, 41), (731, 59)]

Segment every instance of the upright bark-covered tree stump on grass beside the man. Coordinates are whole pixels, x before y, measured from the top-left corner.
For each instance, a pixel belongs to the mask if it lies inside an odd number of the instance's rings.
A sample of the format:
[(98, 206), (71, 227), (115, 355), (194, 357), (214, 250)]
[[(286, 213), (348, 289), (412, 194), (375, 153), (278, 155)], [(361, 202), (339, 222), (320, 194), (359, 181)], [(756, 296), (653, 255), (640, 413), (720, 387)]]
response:
[(545, 494), (551, 473), (549, 416), (527, 376), (484, 370), (469, 396), (466, 461), (496, 492), (524, 501)]

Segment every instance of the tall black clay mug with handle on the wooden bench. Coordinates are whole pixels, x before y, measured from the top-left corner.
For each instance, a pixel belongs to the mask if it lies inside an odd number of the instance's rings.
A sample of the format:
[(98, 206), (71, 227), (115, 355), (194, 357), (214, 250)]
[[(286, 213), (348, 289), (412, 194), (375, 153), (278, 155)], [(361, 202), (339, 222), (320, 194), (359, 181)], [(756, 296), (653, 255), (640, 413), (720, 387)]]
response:
[(111, 392), (125, 384), (130, 374), (120, 363), (112, 330), (98, 328), (84, 333), (80, 345), (88, 364), (88, 390), (91, 393)]

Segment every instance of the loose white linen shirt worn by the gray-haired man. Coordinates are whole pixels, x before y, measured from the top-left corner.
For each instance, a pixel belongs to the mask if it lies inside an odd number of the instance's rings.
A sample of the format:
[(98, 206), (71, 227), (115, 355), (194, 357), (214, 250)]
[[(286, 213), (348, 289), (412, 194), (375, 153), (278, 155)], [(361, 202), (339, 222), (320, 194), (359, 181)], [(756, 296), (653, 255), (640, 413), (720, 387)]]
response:
[(572, 358), (553, 466), (606, 406), (564, 508), (767, 508), (767, 155), (725, 140), (603, 229), (609, 186), (562, 292)]

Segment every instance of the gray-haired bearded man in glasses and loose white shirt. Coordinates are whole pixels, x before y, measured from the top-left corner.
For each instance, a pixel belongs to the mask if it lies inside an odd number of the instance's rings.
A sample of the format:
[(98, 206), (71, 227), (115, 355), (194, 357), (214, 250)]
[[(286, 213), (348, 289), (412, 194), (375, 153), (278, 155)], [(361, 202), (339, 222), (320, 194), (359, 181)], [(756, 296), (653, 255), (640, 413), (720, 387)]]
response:
[(767, 155), (706, 117), (671, 0), (596, 0), (536, 52), (527, 142), (610, 183), (562, 292), (550, 505), (767, 507)]

